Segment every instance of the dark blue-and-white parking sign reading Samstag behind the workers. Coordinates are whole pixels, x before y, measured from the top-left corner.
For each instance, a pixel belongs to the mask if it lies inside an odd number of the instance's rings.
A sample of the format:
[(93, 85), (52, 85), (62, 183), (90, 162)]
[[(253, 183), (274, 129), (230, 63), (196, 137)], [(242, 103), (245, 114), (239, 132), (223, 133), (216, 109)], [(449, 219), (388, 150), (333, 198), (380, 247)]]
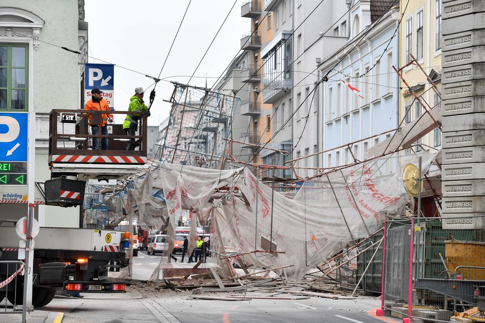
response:
[(114, 65), (87, 63), (84, 72), (84, 97), (85, 101), (91, 99), (91, 90), (97, 88), (103, 93), (101, 96), (108, 102), (111, 109), (114, 108)]

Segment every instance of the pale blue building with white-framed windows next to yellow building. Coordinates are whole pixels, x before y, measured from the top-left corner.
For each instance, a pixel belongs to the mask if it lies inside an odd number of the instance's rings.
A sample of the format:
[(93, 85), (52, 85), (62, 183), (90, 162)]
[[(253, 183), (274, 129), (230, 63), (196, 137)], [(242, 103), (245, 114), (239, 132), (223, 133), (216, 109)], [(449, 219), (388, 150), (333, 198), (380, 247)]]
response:
[(392, 68), (399, 64), (398, 5), (351, 1), (346, 44), (319, 66), (328, 76), (321, 98), (323, 150), (330, 150), (322, 154), (324, 167), (364, 159), (368, 148), (391, 136), (384, 132), (398, 126), (399, 77)]

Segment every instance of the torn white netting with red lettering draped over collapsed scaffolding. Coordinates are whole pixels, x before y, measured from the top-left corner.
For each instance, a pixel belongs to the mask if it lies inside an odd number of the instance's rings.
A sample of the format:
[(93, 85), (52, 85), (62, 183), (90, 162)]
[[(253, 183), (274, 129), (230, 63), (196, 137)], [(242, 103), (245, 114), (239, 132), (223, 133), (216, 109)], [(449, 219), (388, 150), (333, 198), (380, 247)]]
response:
[[(423, 172), (433, 155), (423, 153)], [(160, 163), (142, 179), (136, 191), (140, 215), (150, 202), (154, 187), (163, 188), (172, 229), (182, 209), (191, 210), (201, 223), (211, 219), (211, 249), (218, 252), (256, 252), (242, 260), (255, 268), (286, 265), (279, 273), (299, 279), (311, 268), (346, 245), (369, 236), (388, 214), (404, 214), (406, 192), (402, 170), (418, 164), (418, 155), (392, 154), (305, 182), (293, 199), (273, 192), (249, 169), (216, 170)], [(137, 186), (138, 187), (138, 186)], [(145, 192), (145, 193), (144, 193)], [(145, 205), (144, 205), (145, 204)], [(195, 235), (193, 235), (195, 237)], [(194, 246), (191, 239), (189, 249)], [(167, 253), (165, 253), (167, 255)], [(162, 257), (158, 270), (171, 266)], [(235, 276), (227, 261), (222, 274)]]

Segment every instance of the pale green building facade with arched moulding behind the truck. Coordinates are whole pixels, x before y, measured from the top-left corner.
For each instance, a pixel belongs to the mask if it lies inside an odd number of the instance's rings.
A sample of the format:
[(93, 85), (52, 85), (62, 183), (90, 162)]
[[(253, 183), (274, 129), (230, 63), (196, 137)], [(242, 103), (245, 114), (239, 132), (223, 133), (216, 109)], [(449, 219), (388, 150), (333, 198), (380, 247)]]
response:
[[(0, 111), (35, 113), (36, 131), (29, 137), (35, 136), (36, 182), (50, 179), (51, 109), (81, 106), (83, 63), (87, 56), (60, 46), (87, 54), (87, 23), (83, 19), (83, 0), (51, 0), (49, 5), (39, 1), (3, 0), (0, 7)], [(27, 185), (0, 185), (0, 212), (23, 216), (27, 204), (22, 203), (27, 203), (27, 194)], [(13, 195), (20, 198), (8, 198)], [(79, 226), (78, 207), (45, 206), (37, 188), (35, 200), (39, 203), (36, 218), (41, 226)]]

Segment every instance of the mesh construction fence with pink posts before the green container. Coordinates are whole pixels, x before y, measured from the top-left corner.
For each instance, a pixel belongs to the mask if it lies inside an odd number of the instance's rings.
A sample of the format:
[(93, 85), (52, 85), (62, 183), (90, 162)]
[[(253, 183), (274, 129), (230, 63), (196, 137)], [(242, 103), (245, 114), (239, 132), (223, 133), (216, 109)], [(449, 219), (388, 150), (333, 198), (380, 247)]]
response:
[(381, 309), (405, 322), (485, 322), (485, 226), (467, 225), (477, 219), (386, 221)]

